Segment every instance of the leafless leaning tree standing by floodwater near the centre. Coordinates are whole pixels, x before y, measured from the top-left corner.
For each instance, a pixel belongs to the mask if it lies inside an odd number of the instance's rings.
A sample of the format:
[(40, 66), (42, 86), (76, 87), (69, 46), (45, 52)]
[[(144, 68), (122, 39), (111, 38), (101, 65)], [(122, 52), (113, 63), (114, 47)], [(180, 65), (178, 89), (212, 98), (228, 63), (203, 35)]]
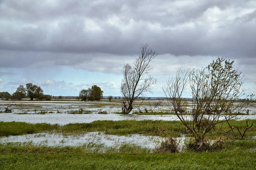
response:
[(135, 59), (133, 67), (129, 64), (123, 66), (121, 84), (121, 93), (125, 97), (122, 107), (123, 113), (128, 114), (133, 110), (134, 100), (143, 92), (151, 92), (150, 88), (156, 83), (156, 79), (149, 75), (151, 71), (149, 63), (156, 56), (156, 52), (152, 51), (148, 44), (141, 45), (141, 55)]

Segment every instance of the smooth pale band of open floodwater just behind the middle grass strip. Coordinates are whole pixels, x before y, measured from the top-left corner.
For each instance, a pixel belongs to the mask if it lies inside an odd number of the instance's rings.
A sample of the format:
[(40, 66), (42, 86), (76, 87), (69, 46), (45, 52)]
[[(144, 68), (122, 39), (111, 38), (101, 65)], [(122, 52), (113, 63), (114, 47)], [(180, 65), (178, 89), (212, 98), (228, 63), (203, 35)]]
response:
[[(240, 120), (256, 119), (255, 115), (239, 116)], [(75, 124), (90, 123), (98, 120), (179, 120), (175, 115), (121, 115), (121, 114), (67, 114), (67, 113), (47, 113), (47, 114), (14, 114), (0, 113), (0, 121), (4, 122), (28, 122), (31, 124), (48, 123), (48, 124)]]

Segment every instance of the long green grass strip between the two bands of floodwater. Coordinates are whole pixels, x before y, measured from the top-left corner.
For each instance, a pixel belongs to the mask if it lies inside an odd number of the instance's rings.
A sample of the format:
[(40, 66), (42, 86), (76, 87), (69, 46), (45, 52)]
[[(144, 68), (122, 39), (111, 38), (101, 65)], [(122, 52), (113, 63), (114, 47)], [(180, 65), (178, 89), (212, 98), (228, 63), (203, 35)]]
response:
[[(251, 138), (255, 136), (256, 131), (256, 120), (243, 120), (229, 121), (231, 126), (236, 125), (241, 133), (246, 129), (246, 121), (248, 125), (253, 126), (246, 131), (245, 138)], [(216, 129), (210, 131), (207, 134), (208, 139), (216, 139), (224, 131), (229, 130), (227, 123), (218, 124)], [(91, 123), (77, 123), (67, 125), (51, 125), (51, 124), (29, 124), (25, 122), (0, 122), (0, 136), (8, 135), (22, 135), (32, 133), (62, 133), (63, 135), (79, 135), (85, 134), (92, 131), (101, 131), (105, 134), (114, 135), (129, 135), (129, 134), (143, 134), (143, 135), (154, 135), (160, 137), (180, 137), (180, 135), (186, 133), (185, 126), (180, 121), (152, 121), (152, 120), (123, 120), (123, 121), (94, 121)], [(241, 138), (240, 133), (237, 129), (226, 133), (226, 138)], [(189, 135), (189, 134), (187, 134)]]

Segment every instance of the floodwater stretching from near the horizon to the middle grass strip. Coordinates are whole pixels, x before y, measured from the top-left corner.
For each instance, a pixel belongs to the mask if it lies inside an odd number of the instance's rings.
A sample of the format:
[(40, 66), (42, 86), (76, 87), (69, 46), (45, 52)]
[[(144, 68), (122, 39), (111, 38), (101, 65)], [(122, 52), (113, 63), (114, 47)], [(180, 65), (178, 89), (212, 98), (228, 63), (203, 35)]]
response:
[[(147, 105), (143, 105), (141, 110), (147, 108), (154, 111), (168, 111), (165, 104), (154, 108), (156, 101), (146, 101)], [(0, 111), (5, 111), (7, 105), (12, 109), (11, 113), (0, 113), (0, 121), (10, 122), (28, 122), (28, 123), (48, 123), (48, 124), (71, 124), (71, 123), (90, 123), (97, 120), (164, 120), (175, 121), (179, 120), (175, 115), (136, 115), (136, 114), (115, 114), (121, 112), (122, 101), (0, 101)], [(137, 101), (137, 104), (141, 101)], [(78, 111), (80, 108), (84, 111), (90, 111), (90, 114), (68, 114), (70, 111)], [(106, 111), (108, 114), (98, 114), (100, 111)], [(134, 111), (138, 111), (137, 108)], [(17, 113), (26, 114), (17, 114)], [(46, 112), (46, 114), (40, 114)], [(60, 113), (57, 113), (60, 112)], [(250, 108), (249, 115), (239, 116), (240, 120), (256, 119), (255, 107)]]

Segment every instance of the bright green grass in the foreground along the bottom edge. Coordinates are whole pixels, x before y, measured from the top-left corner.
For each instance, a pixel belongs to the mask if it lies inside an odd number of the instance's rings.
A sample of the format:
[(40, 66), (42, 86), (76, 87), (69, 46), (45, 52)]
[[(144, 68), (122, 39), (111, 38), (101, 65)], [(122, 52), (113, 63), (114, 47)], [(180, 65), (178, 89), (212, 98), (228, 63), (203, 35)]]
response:
[(8, 143), (0, 144), (0, 169), (255, 169), (255, 150), (247, 147), (246, 141), (234, 141), (233, 145), (229, 150), (180, 154), (138, 153), (135, 146), (123, 146), (118, 153), (102, 154), (88, 153), (86, 146)]

